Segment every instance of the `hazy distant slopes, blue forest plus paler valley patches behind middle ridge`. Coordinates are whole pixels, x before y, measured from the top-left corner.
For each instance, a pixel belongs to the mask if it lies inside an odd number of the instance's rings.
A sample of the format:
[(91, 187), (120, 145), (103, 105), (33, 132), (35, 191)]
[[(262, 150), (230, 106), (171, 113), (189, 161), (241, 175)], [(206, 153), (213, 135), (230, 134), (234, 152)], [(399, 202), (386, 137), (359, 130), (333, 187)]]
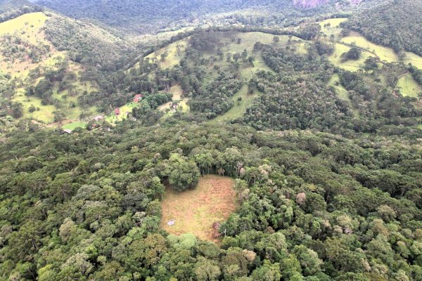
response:
[[(219, 1), (95, 1), (39, 0), (46, 6), (72, 18), (94, 20), (125, 32), (158, 32), (198, 25), (271, 25), (297, 24), (303, 18), (349, 10), (350, 2), (293, 0), (219, 0)], [(312, 3), (308, 3), (312, 2)], [(321, 3), (319, 3), (321, 2)], [(323, 8), (320, 8), (319, 4)], [(311, 8), (311, 9), (309, 9)]]

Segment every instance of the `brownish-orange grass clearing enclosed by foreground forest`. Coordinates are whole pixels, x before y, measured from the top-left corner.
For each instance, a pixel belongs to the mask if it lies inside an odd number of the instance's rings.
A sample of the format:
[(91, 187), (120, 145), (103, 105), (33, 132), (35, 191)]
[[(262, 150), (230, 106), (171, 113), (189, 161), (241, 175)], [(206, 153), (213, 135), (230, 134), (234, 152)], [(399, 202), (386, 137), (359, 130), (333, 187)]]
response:
[[(168, 233), (193, 233), (217, 242), (212, 224), (222, 223), (238, 207), (233, 178), (207, 175), (193, 190), (177, 192), (168, 188), (162, 201), (161, 227)], [(174, 220), (173, 226), (167, 222)]]

